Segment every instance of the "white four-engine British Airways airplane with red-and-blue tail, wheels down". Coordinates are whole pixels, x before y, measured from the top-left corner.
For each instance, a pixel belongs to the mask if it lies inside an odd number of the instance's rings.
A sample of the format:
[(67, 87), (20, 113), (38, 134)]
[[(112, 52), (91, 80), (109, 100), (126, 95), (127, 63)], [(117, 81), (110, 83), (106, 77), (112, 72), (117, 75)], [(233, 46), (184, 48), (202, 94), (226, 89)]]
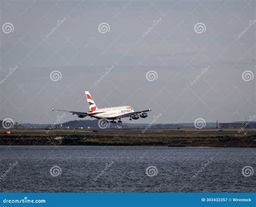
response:
[(118, 119), (118, 123), (122, 123), (121, 119), (125, 117), (130, 117), (130, 120), (139, 119), (139, 117), (146, 118), (147, 117), (146, 112), (151, 111), (151, 109), (134, 111), (131, 106), (116, 106), (116, 107), (98, 109), (89, 91), (85, 91), (85, 96), (90, 109), (90, 111), (88, 112), (66, 111), (66, 110), (58, 110), (58, 109), (52, 109), (52, 111), (70, 112), (72, 113), (72, 115), (77, 115), (79, 118), (84, 118), (86, 116), (89, 116), (96, 119), (104, 119), (105, 122), (108, 122), (107, 120), (111, 120), (111, 123), (116, 123), (115, 120), (117, 119)]

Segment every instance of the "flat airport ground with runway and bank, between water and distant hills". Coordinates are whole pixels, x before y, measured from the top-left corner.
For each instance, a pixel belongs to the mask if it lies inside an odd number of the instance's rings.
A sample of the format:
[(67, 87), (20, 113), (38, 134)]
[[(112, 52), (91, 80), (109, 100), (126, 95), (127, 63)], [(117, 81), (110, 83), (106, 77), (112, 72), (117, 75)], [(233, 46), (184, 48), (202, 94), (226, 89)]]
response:
[(2, 129), (0, 145), (256, 147), (256, 130), (239, 133), (239, 129)]

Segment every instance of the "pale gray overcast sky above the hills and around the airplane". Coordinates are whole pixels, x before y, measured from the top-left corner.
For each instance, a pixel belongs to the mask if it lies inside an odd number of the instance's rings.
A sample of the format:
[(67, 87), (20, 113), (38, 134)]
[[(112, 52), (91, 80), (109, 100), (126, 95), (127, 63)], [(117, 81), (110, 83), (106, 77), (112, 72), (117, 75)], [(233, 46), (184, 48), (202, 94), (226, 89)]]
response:
[[(255, 1), (0, 4), (0, 119), (52, 123), (62, 115), (52, 108), (89, 111), (85, 90), (98, 108), (152, 109), (131, 123), (152, 122), (159, 113), (157, 123), (233, 122), (256, 114)], [(50, 78), (54, 70), (58, 81)], [(150, 70), (156, 80), (147, 80)], [(76, 119), (67, 115), (63, 122)]]

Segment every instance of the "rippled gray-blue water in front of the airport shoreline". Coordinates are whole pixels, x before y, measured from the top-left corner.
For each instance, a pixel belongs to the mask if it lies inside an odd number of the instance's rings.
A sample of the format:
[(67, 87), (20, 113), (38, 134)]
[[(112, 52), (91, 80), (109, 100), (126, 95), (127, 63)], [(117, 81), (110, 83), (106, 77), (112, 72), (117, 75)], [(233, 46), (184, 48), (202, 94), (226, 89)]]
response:
[[(256, 169), (255, 153), (255, 148), (0, 146), (0, 190), (255, 192), (255, 173), (242, 175), (245, 166)], [(52, 176), (53, 166), (62, 173)], [(156, 167), (154, 176), (146, 174), (149, 166)]]

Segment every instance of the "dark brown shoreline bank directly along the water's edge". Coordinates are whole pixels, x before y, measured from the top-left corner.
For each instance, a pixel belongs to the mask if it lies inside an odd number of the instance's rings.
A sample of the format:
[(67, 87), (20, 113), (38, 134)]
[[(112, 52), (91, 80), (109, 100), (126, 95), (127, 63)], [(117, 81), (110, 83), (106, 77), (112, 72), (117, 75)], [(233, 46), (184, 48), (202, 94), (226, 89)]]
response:
[(139, 137), (136, 135), (0, 136), (0, 145), (42, 146), (167, 146), (167, 147), (256, 147), (256, 135), (248, 137)]

